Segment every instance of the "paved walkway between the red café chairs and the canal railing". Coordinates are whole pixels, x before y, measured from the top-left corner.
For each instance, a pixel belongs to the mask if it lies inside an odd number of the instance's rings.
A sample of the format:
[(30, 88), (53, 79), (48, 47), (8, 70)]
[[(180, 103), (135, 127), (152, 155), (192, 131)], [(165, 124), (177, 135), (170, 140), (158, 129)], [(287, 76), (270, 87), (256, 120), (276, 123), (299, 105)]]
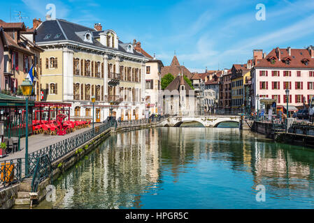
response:
[[(94, 127), (97, 127), (101, 124), (95, 123)], [(41, 148), (45, 148), (46, 146), (50, 146), (52, 144), (55, 144), (59, 141), (62, 141), (64, 139), (68, 139), (70, 137), (73, 137), (76, 134), (79, 134), (81, 132), (85, 132), (87, 130), (92, 129), (92, 125), (90, 128), (81, 128), (79, 130), (76, 130), (75, 132), (71, 132), (70, 134), (65, 135), (50, 135), (50, 134), (34, 134), (29, 136), (29, 153), (33, 153), (34, 151), (38, 151)], [(15, 153), (9, 153), (6, 157), (0, 158), (1, 160), (10, 160), (10, 159), (16, 159), (16, 158), (23, 158), (25, 157), (25, 138), (20, 139), (20, 151)]]

